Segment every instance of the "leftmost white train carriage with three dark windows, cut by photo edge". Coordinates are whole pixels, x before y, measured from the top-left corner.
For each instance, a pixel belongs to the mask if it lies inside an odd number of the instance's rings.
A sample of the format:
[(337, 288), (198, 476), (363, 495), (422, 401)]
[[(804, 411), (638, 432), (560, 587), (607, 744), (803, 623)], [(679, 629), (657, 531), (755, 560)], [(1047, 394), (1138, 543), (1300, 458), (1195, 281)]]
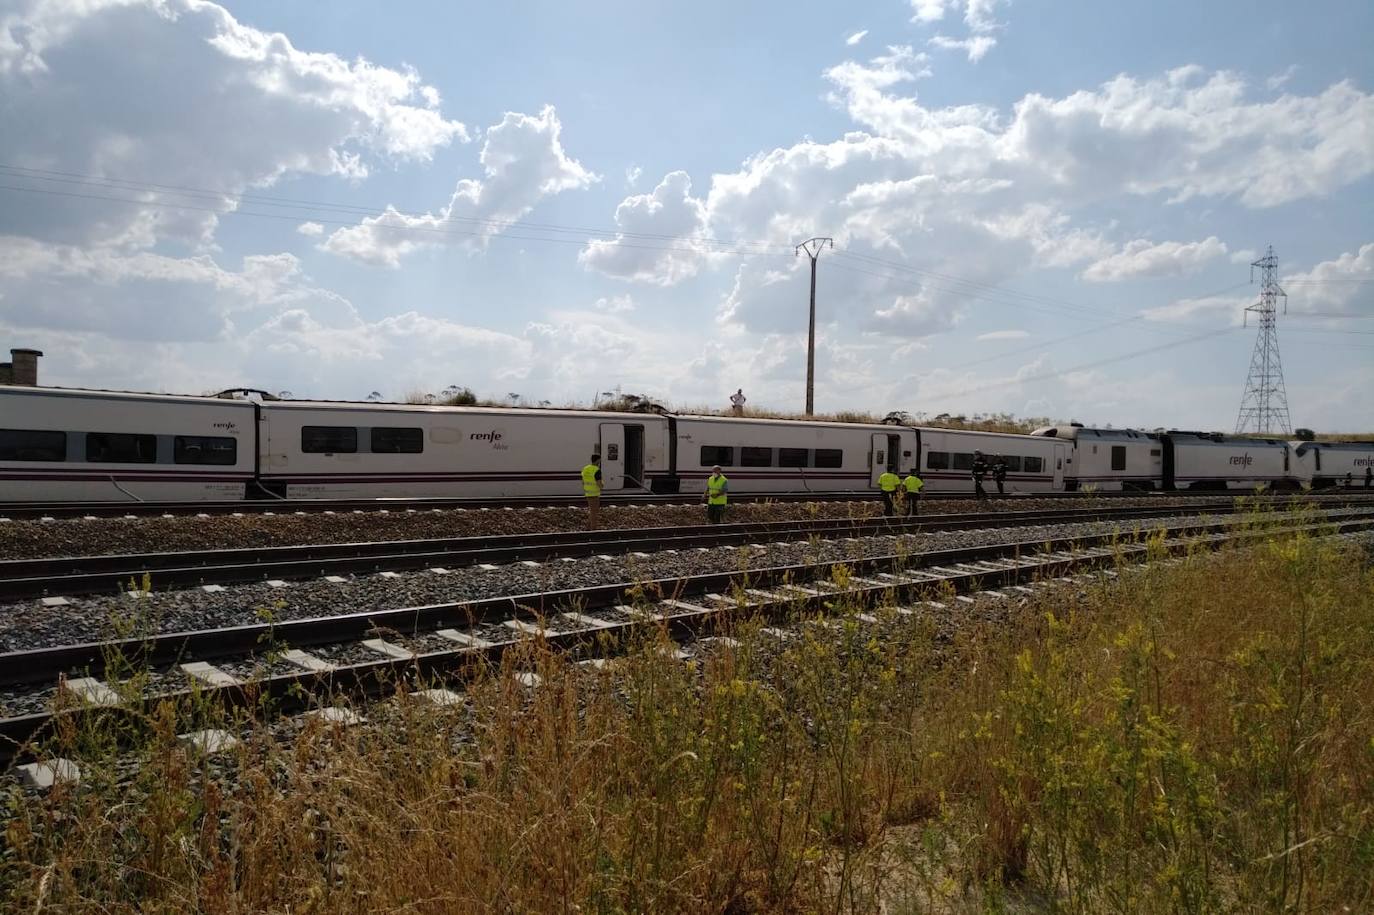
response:
[(0, 389), (0, 501), (243, 499), (254, 411), (213, 397)]

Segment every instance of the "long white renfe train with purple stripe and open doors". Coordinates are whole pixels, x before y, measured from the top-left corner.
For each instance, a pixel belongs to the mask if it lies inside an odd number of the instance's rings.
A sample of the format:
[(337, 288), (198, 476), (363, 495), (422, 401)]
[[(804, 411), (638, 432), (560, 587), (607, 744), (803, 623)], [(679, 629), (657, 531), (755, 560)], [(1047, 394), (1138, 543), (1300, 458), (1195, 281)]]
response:
[(1316, 485), (1374, 444), (0, 387), (0, 501), (577, 496), (594, 453), (607, 493), (695, 493), (713, 464), (734, 493), (872, 490), (889, 468), (970, 492), (980, 451), (1025, 493)]

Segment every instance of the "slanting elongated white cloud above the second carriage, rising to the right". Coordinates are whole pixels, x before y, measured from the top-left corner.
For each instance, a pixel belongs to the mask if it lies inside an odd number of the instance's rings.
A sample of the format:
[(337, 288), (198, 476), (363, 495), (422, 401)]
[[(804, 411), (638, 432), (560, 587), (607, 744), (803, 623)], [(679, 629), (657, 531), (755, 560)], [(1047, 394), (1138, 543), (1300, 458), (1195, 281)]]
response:
[(554, 106), (537, 115), (507, 111), (486, 131), (482, 179), (463, 179), (438, 213), (411, 216), (387, 206), (357, 225), (337, 229), (322, 247), (378, 267), (400, 267), (425, 247), (463, 242), (482, 247), (493, 235), (525, 217), (555, 194), (587, 188), (600, 180), (563, 151), (562, 124)]

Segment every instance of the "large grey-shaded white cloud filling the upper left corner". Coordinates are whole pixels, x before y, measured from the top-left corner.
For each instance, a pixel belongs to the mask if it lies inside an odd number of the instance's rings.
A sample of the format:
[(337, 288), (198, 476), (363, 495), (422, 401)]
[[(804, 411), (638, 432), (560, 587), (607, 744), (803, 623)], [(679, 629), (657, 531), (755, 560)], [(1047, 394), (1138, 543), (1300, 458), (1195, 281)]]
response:
[[(0, 234), (51, 242), (206, 243), (217, 217), (177, 205), (232, 210), (235, 194), (287, 174), (356, 180), (374, 159), (427, 162), (467, 137), (414, 70), (304, 51), (192, 0), (10, 4), (0, 98), (0, 162), (44, 170), (23, 184), (133, 201), (44, 195), (32, 198), (43, 206), (0, 207)], [(188, 199), (150, 183), (213, 191)]]

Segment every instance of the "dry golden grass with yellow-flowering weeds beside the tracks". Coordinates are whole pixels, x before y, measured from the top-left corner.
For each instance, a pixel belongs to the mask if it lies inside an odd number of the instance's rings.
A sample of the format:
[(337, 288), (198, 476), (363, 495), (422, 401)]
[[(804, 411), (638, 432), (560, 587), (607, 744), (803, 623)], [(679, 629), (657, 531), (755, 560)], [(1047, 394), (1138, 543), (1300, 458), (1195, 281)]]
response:
[(246, 723), (223, 778), (168, 710), (132, 779), (93, 761), (78, 790), (11, 790), (4, 910), (1374, 905), (1374, 578), (1352, 551), (1276, 537), (999, 625), (735, 635), (683, 665), (651, 633), (602, 672), (534, 647), (464, 709), (386, 703), (356, 731)]

